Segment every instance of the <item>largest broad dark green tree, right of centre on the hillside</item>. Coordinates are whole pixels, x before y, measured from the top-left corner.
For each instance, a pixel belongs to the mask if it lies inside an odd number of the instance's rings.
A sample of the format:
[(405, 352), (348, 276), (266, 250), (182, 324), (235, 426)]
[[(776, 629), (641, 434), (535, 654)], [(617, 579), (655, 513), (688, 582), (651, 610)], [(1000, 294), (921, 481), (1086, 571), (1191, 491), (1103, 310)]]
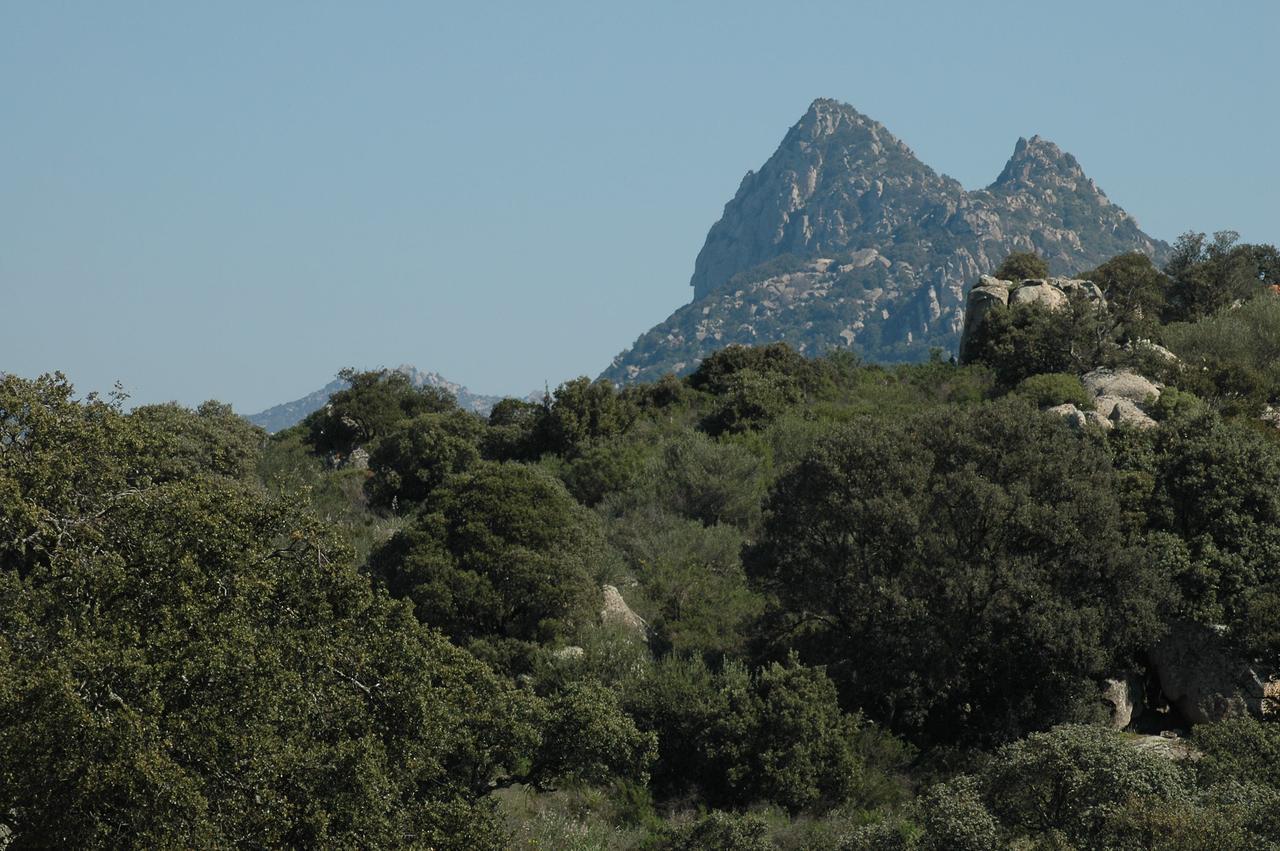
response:
[(1157, 631), (1165, 591), (1119, 517), (1106, 456), (1034, 408), (864, 420), (777, 482), (748, 572), (849, 705), (1001, 741), (1087, 714)]

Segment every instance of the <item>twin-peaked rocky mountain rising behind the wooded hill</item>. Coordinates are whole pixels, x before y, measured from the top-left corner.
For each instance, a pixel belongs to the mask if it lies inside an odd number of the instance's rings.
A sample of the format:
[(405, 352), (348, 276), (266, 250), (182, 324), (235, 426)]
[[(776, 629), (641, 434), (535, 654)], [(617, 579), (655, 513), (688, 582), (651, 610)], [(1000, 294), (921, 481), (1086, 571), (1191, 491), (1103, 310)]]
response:
[(724, 205), (694, 262), (694, 301), (603, 378), (687, 372), (730, 343), (882, 361), (954, 352), (965, 288), (1014, 251), (1070, 275), (1126, 251), (1164, 262), (1169, 246), (1038, 136), (1018, 139), (995, 183), (966, 191), (879, 122), (820, 99)]

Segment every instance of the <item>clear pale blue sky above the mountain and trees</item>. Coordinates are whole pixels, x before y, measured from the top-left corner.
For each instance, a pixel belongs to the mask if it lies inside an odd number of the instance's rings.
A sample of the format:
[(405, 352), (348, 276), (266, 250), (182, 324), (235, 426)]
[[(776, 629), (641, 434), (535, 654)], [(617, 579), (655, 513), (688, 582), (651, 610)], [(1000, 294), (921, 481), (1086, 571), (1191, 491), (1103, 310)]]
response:
[(0, 0), (0, 371), (251, 413), (343, 366), (598, 375), (815, 97), (1280, 242), (1280, 4)]

